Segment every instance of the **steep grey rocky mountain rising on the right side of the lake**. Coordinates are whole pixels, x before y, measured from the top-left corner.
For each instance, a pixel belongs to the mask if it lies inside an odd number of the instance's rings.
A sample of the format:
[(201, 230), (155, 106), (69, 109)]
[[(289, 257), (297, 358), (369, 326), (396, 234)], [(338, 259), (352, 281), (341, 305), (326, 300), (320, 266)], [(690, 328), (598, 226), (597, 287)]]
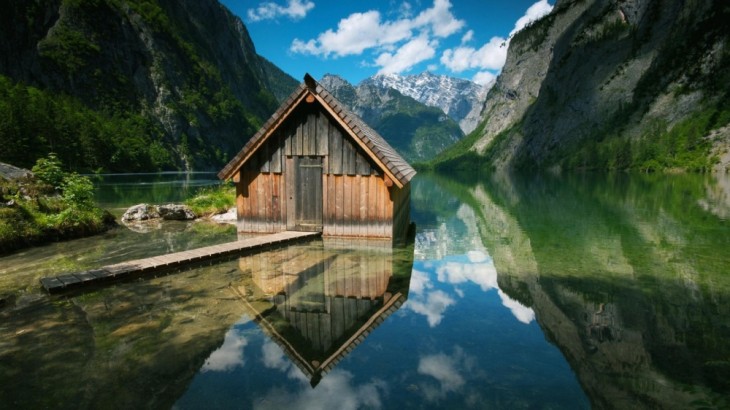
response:
[(720, 0), (558, 0), (512, 38), (481, 124), (436, 166), (726, 167), (727, 21)]

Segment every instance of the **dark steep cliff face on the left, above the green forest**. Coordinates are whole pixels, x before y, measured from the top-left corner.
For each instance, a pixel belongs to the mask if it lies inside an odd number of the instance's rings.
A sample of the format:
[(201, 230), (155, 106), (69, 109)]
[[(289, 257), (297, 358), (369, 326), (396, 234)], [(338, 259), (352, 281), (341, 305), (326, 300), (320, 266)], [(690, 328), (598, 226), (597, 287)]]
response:
[[(141, 118), (144, 143), (170, 154), (164, 168), (217, 167), (297, 84), (256, 54), (244, 24), (216, 0), (2, 3), (0, 74), (111, 117)], [(36, 156), (57, 150), (36, 142)], [(99, 155), (124, 170), (113, 153)]]

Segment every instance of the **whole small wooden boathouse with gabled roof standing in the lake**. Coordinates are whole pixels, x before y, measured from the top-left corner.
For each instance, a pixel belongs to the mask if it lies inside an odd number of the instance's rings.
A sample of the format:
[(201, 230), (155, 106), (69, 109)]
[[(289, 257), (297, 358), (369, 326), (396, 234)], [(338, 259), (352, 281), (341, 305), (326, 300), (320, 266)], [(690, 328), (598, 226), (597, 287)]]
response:
[(399, 240), (416, 171), (309, 74), (219, 173), (238, 231)]

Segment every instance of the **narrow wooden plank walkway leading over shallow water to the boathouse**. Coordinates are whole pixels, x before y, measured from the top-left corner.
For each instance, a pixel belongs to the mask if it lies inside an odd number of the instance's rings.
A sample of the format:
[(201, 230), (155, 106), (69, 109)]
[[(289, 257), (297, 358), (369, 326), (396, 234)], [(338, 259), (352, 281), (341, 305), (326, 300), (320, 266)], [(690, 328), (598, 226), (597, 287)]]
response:
[(99, 284), (133, 277), (151, 272), (180, 269), (187, 265), (202, 263), (213, 259), (235, 256), (241, 253), (258, 252), (272, 246), (287, 242), (295, 242), (320, 236), (320, 232), (285, 231), (270, 235), (261, 235), (240, 241), (228, 242), (220, 245), (206, 246), (183, 252), (167, 255), (152, 256), (114, 265), (107, 265), (99, 269), (70, 273), (60, 276), (41, 278), (41, 285), (49, 293), (58, 293), (82, 286)]

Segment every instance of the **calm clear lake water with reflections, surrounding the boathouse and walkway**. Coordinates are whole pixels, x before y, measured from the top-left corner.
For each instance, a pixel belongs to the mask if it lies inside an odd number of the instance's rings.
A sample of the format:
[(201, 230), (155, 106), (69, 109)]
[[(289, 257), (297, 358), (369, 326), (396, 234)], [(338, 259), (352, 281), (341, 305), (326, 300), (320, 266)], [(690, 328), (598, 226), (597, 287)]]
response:
[[(117, 215), (216, 183), (114, 178), (99, 202)], [(2, 257), (0, 407), (730, 406), (727, 178), (419, 174), (411, 206), (404, 248), (319, 240), (72, 295), (38, 280), (235, 229)]]

